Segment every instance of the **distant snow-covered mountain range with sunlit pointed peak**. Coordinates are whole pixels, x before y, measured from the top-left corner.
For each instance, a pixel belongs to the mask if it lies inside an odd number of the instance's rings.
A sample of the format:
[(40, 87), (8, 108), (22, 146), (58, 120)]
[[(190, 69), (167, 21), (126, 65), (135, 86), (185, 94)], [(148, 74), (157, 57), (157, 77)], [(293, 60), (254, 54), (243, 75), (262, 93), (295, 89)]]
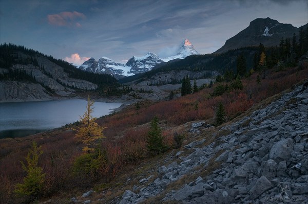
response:
[(148, 52), (144, 56), (132, 56), (126, 64), (115, 62), (107, 57), (102, 57), (98, 61), (90, 58), (79, 66), (79, 69), (87, 72), (110, 74), (116, 79), (121, 79), (135, 74), (141, 74), (153, 69), (157, 64), (167, 62), (173, 59), (184, 59), (190, 55), (199, 55), (194, 46), (185, 39), (174, 56), (160, 58), (152, 52)]

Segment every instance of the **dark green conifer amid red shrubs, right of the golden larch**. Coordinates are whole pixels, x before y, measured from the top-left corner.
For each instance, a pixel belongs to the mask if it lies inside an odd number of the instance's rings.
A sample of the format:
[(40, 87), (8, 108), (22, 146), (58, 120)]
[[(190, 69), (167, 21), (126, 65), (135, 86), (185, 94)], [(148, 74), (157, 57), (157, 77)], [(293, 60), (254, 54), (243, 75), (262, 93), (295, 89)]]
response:
[(158, 117), (154, 117), (151, 121), (151, 127), (147, 135), (147, 149), (153, 154), (157, 155), (167, 150), (167, 145), (164, 144), (164, 138), (162, 136), (162, 130), (158, 125)]

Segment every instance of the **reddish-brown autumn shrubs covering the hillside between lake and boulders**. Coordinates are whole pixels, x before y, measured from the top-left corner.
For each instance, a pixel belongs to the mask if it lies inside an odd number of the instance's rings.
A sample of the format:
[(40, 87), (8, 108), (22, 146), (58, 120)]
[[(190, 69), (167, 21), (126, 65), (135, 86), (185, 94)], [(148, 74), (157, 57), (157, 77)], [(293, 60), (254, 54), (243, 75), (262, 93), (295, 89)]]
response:
[[(99, 144), (98, 152), (83, 161), (98, 161), (102, 163), (91, 166), (86, 171), (76, 170), (76, 158), (83, 155), (83, 144), (76, 141), (75, 131), (69, 127), (52, 132), (44, 132), (26, 138), (4, 139), (1, 141), (1, 203), (20, 203), (25, 197), (17, 198), (14, 194), (15, 185), (22, 183), (25, 172), (18, 161), (24, 161), (32, 141), (42, 145), (43, 154), (38, 160), (46, 174), (44, 188), (37, 198), (50, 197), (59, 192), (82, 191), (95, 185), (108, 187), (115, 177), (139, 164), (150, 160), (147, 151), (146, 135), (149, 122), (157, 116), (160, 120), (164, 144), (171, 150), (176, 145), (175, 135), (184, 134), (182, 124), (190, 121), (205, 120), (215, 125), (215, 112), (219, 102), (225, 109), (224, 119), (230, 121), (244, 114), (254, 104), (292, 88), (296, 83), (308, 78), (307, 60), (302, 60), (300, 66), (286, 67), (283, 70), (266, 71), (264, 79), (258, 80), (259, 73), (241, 79), (242, 88), (224, 89), (217, 95), (217, 87), (232, 87), (232, 82), (220, 82), (213, 87), (204, 88), (195, 94), (186, 95), (174, 100), (163, 102), (144, 101), (138, 106), (128, 106), (126, 109), (97, 120), (103, 127), (106, 139)], [(186, 138), (189, 141), (189, 138)], [(98, 157), (99, 156), (99, 157)], [(86, 159), (86, 158), (84, 158)], [(79, 166), (80, 168), (80, 166)], [(79, 169), (77, 168), (77, 169)], [(104, 185), (103, 185), (104, 184)], [(105, 190), (105, 188), (100, 188)]]

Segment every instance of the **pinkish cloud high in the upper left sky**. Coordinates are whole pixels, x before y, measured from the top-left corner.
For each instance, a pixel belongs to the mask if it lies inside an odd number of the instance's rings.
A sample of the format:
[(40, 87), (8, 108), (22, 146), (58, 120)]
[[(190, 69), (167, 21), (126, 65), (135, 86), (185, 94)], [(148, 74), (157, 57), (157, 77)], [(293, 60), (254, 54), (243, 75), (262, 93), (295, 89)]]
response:
[(81, 27), (80, 22), (77, 22), (77, 20), (85, 18), (86, 16), (83, 13), (77, 11), (64, 11), (47, 15), (49, 24), (54, 26)]

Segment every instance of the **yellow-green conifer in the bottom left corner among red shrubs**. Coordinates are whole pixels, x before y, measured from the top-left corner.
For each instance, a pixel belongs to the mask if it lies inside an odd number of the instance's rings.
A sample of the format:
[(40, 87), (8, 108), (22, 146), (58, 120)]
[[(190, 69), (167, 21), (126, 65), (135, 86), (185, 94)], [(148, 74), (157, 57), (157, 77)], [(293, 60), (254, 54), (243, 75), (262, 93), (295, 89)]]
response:
[(28, 196), (30, 200), (36, 199), (42, 193), (44, 187), (45, 173), (38, 166), (38, 158), (43, 154), (42, 146), (37, 147), (33, 141), (32, 149), (26, 157), (27, 166), (22, 163), (23, 169), (27, 172), (23, 184), (16, 184), (15, 193), (19, 196)]

